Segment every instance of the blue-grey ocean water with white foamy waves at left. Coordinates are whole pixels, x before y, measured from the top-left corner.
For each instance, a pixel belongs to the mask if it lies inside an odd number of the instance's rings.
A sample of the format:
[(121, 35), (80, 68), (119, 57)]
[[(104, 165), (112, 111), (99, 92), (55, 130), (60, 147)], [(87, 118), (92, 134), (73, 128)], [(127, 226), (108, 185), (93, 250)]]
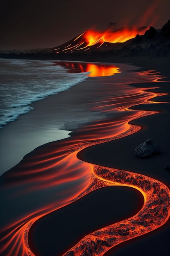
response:
[(0, 59), (0, 128), (33, 110), (31, 103), (68, 90), (89, 72), (69, 73), (54, 61)]

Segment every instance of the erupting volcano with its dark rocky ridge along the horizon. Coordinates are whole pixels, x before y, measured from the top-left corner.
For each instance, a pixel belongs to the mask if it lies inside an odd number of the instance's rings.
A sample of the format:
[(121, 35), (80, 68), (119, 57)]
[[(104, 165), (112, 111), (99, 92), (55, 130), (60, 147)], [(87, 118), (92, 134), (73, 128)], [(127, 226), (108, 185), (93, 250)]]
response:
[[(90, 56), (93, 53), (93, 61), (101, 61), (98, 57), (108, 57), (110, 62), (115, 62), (115, 56), (119, 57), (167, 57), (170, 55), (170, 20), (161, 29), (152, 26), (147, 27), (121, 27), (113, 30), (115, 23), (110, 23), (109, 27), (103, 31), (88, 29), (75, 36), (68, 42), (53, 47), (41, 49), (31, 49), (24, 52), (14, 50), (12, 52), (2, 51), (2, 58), (18, 57), (22, 58), (48, 58), (60, 60), (80, 60), (80, 56)], [(141, 24), (140, 24), (141, 25)], [(152, 25), (152, 24), (150, 24)], [(67, 55), (67, 58), (65, 56)], [(70, 59), (70, 58), (69, 58)], [(87, 59), (86, 61), (92, 61)]]

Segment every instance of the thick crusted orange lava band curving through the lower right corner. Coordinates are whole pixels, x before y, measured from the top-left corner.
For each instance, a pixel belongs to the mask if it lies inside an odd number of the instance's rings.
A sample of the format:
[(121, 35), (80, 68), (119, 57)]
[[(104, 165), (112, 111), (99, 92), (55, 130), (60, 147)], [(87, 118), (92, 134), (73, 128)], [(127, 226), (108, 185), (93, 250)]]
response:
[(64, 256), (102, 256), (115, 245), (157, 229), (168, 220), (170, 191), (163, 183), (145, 175), (103, 166), (94, 166), (94, 175), (108, 186), (130, 186), (139, 190), (144, 196), (144, 206), (132, 218), (85, 236)]

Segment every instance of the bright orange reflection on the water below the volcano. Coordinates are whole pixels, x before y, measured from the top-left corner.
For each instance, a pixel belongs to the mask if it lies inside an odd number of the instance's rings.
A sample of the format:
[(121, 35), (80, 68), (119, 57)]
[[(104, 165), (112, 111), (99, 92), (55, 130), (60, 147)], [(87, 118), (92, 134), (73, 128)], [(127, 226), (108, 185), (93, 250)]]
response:
[(61, 67), (67, 67), (68, 72), (70, 73), (80, 73), (80, 72), (89, 72), (88, 76), (112, 76), (113, 74), (118, 74), (121, 71), (119, 67), (113, 64), (94, 64), (86, 62), (69, 62), (69, 61), (60, 61), (55, 62), (56, 65)]

